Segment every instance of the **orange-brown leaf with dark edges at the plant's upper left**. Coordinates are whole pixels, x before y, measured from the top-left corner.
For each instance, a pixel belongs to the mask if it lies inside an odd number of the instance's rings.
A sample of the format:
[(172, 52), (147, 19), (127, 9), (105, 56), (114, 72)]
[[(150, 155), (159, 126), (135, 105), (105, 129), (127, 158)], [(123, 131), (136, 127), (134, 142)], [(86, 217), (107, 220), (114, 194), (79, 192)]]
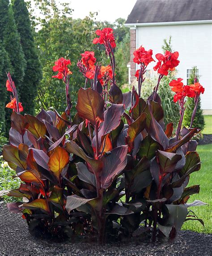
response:
[(29, 124), (27, 130), (29, 130), (30, 133), (33, 134), (36, 139), (39, 139), (40, 137), (43, 137), (43, 135), (46, 134), (47, 128), (44, 125), (44, 123), (38, 120), (38, 118), (28, 114), (25, 114), (24, 117)]

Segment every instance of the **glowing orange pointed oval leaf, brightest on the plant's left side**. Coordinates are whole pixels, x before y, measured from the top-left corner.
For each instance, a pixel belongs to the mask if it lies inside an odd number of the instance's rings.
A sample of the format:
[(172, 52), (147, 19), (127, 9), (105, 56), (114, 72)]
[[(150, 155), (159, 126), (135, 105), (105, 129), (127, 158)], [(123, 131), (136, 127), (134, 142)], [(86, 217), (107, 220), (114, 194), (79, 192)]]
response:
[(52, 152), (50, 152), (48, 166), (59, 179), (59, 175), (64, 167), (68, 164), (68, 161), (68, 152), (64, 148), (56, 147), (54, 150), (52, 150)]

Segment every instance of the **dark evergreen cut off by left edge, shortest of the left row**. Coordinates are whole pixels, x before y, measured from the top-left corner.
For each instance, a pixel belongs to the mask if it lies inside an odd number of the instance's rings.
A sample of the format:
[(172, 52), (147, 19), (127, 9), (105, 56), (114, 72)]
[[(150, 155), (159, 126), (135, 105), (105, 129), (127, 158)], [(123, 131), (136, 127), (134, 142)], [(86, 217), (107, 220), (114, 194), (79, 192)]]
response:
[(8, 53), (5, 51), (3, 47), (3, 43), (0, 41), (0, 122), (1, 122), (1, 130), (0, 133), (4, 133), (6, 130), (6, 125), (5, 125), (5, 115), (6, 115), (6, 109), (5, 109), (5, 102), (8, 100), (7, 99), (7, 91), (6, 91), (6, 81), (7, 81), (7, 76), (6, 72), (8, 70), (12, 70)]

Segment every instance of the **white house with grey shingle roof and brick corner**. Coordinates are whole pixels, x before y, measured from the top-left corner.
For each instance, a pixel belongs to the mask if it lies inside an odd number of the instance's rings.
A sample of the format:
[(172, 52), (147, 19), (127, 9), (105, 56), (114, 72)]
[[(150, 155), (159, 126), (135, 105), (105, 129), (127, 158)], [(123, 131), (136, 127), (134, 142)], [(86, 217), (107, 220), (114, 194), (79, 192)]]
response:
[(134, 50), (143, 45), (154, 55), (162, 53), (164, 39), (171, 36), (172, 48), (179, 52), (177, 76), (187, 83), (191, 68), (197, 66), (205, 87), (201, 106), (204, 114), (212, 114), (212, 0), (137, 0), (125, 25), (131, 35), (130, 81), (136, 73)]

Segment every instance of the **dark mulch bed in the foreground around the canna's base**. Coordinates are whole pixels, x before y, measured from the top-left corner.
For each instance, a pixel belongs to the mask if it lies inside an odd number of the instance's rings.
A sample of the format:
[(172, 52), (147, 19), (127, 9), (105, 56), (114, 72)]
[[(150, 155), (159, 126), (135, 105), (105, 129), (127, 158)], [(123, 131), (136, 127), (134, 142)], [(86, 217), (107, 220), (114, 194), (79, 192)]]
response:
[(212, 255), (212, 235), (181, 231), (173, 243), (153, 245), (125, 241), (103, 246), (94, 243), (56, 243), (35, 238), (19, 214), (0, 204), (0, 255)]

